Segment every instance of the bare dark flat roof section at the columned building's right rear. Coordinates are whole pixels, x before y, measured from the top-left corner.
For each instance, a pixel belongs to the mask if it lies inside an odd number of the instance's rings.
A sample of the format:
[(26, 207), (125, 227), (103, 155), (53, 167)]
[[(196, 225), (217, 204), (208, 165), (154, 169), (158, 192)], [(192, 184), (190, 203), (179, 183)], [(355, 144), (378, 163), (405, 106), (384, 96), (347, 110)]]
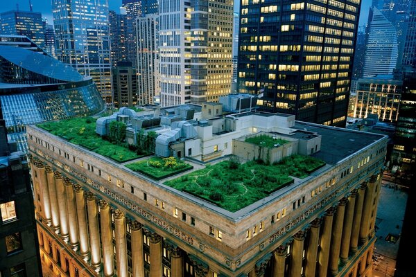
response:
[(306, 131), (317, 132), (322, 136), (320, 152), (311, 156), (322, 159), (329, 164), (337, 163), (374, 143), (374, 141), (379, 141), (385, 137), (381, 134), (370, 134), (352, 129), (336, 128), (300, 121), (295, 121), (295, 129), (306, 129)]

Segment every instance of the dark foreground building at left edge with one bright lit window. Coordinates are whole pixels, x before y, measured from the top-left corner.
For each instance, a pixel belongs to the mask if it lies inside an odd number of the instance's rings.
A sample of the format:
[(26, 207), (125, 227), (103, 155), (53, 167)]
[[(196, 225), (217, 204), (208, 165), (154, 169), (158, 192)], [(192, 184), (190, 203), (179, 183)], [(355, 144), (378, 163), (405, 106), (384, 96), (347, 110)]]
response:
[(42, 276), (28, 161), (8, 142), (1, 114), (0, 161), (0, 275)]

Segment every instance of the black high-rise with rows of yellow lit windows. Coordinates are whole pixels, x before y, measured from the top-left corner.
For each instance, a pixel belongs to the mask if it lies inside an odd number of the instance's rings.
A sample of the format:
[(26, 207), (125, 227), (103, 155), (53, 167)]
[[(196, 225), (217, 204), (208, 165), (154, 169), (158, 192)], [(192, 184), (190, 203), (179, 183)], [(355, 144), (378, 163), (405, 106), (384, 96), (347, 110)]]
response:
[(266, 111), (345, 126), (361, 1), (240, 7), (239, 91)]

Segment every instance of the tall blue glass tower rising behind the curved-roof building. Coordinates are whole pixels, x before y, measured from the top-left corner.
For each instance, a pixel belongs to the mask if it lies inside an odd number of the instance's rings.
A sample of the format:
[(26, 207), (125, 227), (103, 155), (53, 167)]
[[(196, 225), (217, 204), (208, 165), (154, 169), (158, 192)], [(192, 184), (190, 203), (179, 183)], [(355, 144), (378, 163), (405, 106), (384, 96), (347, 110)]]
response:
[(89, 75), (112, 103), (108, 0), (53, 0), (56, 55), (83, 75)]

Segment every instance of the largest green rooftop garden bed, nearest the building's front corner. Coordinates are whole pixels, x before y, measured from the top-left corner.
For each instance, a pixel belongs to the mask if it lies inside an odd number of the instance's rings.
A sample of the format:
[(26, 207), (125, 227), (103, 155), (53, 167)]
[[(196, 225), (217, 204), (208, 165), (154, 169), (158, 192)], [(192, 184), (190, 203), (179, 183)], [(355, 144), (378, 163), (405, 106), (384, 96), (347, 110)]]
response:
[(274, 165), (261, 161), (241, 164), (234, 156), (164, 184), (235, 212), (292, 184), (290, 176), (304, 178), (324, 165), (324, 161), (302, 155), (286, 157)]

